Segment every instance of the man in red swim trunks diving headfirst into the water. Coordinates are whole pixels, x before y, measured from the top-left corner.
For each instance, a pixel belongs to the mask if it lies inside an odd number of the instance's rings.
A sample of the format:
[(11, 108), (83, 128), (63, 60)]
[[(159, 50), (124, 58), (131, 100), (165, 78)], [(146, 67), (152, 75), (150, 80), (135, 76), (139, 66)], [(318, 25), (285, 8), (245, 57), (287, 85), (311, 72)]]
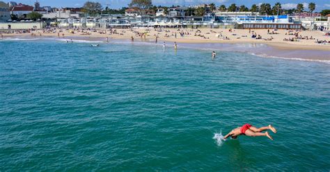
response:
[(269, 139), (273, 140), (273, 137), (269, 135), (268, 132), (262, 132), (264, 130), (272, 130), (272, 132), (276, 133), (276, 128), (274, 128), (272, 125), (269, 125), (267, 127), (262, 128), (256, 128), (255, 126), (251, 126), (251, 124), (246, 123), (242, 127), (235, 128), (231, 130), (228, 135), (223, 137), (223, 139), (227, 139), (228, 137), (232, 137), (233, 139), (236, 139), (239, 135), (247, 135), (250, 137), (257, 137), (257, 136), (266, 136)]

